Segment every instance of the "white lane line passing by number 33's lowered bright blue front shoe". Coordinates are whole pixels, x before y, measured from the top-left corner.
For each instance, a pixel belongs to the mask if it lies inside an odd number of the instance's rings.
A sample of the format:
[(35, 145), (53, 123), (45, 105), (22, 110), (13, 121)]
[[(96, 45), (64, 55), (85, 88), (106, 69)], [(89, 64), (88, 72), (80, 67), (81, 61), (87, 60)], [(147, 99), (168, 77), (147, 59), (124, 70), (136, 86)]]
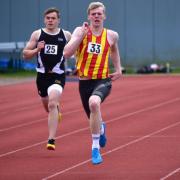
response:
[[(160, 129), (160, 130), (158, 130), (158, 131), (155, 131), (155, 132), (153, 132), (153, 133), (147, 134), (147, 135), (142, 136), (142, 137), (140, 137), (140, 138), (138, 138), (138, 139), (135, 139), (135, 140), (133, 140), (133, 141), (130, 141), (130, 142), (124, 144), (124, 145), (118, 146), (118, 147), (116, 147), (116, 148), (114, 148), (114, 149), (112, 149), (112, 150), (109, 150), (109, 151), (107, 151), (107, 152), (105, 152), (105, 153), (102, 153), (102, 156), (106, 156), (106, 155), (108, 155), (108, 154), (110, 154), (110, 153), (113, 153), (113, 152), (115, 152), (115, 151), (121, 150), (121, 149), (123, 149), (123, 148), (125, 148), (125, 147), (127, 147), (127, 146), (130, 146), (130, 145), (132, 145), (132, 144), (135, 144), (135, 143), (138, 143), (138, 142), (140, 142), (140, 141), (143, 141), (143, 140), (145, 140), (145, 139), (147, 139), (147, 138), (149, 138), (149, 137), (151, 137), (151, 136), (153, 136), (153, 135), (156, 135), (156, 134), (158, 134), (158, 133), (160, 133), (160, 132), (166, 131), (166, 130), (172, 128), (172, 127), (178, 126), (179, 124), (180, 124), (180, 122), (177, 122), (177, 123), (171, 124), (171, 125), (169, 125), (169, 126), (166, 126), (166, 127), (162, 128), (162, 129)], [(54, 174), (52, 174), (52, 175), (50, 175), (50, 176), (44, 177), (44, 178), (42, 178), (42, 180), (51, 179), (51, 178), (53, 178), (53, 177), (55, 177), (55, 176), (61, 175), (61, 174), (65, 173), (65, 172), (70, 171), (70, 170), (72, 170), (72, 169), (75, 169), (75, 168), (77, 168), (77, 167), (79, 167), (79, 166), (82, 166), (82, 165), (84, 165), (84, 164), (87, 164), (87, 163), (90, 162), (90, 161), (91, 161), (91, 159), (82, 161), (82, 162), (77, 163), (77, 164), (75, 164), (75, 165), (73, 165), (73, 166), (71, 166), (71, 167), (68, 167), (68, 168), (66, 168), (66, 169), (64, 169), (64, 170), (62, 170), (62, 171), (59, 171), (59, 172), (56, 172), (56, 173), (54, 173)], [(163, 179), (162, 179), (162, 180), (163, 180)]]

